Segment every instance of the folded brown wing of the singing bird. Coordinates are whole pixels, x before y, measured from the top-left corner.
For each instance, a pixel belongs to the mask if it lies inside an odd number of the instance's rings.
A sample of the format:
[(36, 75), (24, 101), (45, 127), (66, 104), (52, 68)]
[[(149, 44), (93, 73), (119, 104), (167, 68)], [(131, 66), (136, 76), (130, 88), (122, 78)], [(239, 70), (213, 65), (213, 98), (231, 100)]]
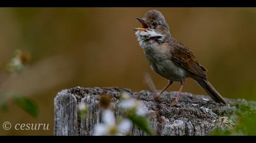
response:
[(189, 48), (175, 39), (173, 39), (171, 42), (171, 46), (174, 47), (171, 48), (172, 62), (182, 68), (185, 68), (191, 73), (194, 73), (195, 75), (201, 76), (202, 78), (207, 78), (204, 72), (206, 69), (202, 67), (199, 62), (197, 62), (196, 57), (193, 55)]

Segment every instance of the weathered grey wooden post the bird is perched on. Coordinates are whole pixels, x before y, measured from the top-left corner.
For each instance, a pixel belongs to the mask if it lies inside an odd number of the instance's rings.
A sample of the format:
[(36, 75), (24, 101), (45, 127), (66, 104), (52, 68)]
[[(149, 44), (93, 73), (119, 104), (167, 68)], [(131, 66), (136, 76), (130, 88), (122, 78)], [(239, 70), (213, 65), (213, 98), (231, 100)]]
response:
[[(229, 105), (223, 105), (212, 101), (208, 96), (182, 93), (179, 104), (168, 107), (164, 102), (171, 103), (176, 98), (176, 91), (163, 93), (160, 97), (162, 102), (158, 103), (154, 101), (152, 92), (146, 90), (132, 93), (128, 89), (117, 87), (76, 87), (60, 91), (54, 99), (54, 135), (93, 135), (94, 125), (102, 121), (99, 108), (102, 93), (111, 97), (115, 116), (119, 116), (120, 109), (116, 103), (124, 91), (130, 93), (132, 98), (142, 101), (148, 108), (148, 121), (160, 135), (208, 135), (216, 127), (230, 130), (235, 125), (236, 115), (241, 112), (240, 107), (256, 105), (255, 102), (242, 99), (226, 99)], [(79, 116), (80, 102), (85, 102), (89, 107), (85, 120)], [(157, 115), (160, 115), (160, 120)], [(130, 133), (146, 135), (137, 127), (133, 127)]]

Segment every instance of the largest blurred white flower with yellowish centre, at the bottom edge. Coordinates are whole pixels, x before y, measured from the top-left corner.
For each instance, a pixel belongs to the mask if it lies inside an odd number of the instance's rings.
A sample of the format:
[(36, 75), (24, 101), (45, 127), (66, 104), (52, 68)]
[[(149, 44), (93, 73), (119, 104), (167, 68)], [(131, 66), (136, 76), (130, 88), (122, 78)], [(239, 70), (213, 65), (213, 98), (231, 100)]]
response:
[(115, 115), (111, 110), (104, 110), (102, 112), (103, 123), (97, 124), (94, 127), (94, 136), (108, 136), (108, 135), (126, 135), (132, 127), (132, 122), (129, 119), (123, 119), (119, 124), (115, 121)]

